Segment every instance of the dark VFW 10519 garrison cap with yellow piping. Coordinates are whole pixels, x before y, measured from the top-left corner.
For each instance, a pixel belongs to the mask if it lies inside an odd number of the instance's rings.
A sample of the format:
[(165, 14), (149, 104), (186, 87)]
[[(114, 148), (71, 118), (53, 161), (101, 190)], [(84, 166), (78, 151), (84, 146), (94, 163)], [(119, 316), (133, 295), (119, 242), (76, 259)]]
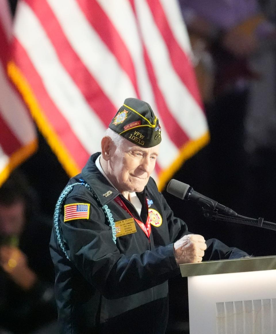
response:
[(158, 119), (150, 105), (138, 99), (125, 99), (109, 128), (138, 146), (153, 147), (161, 142)]

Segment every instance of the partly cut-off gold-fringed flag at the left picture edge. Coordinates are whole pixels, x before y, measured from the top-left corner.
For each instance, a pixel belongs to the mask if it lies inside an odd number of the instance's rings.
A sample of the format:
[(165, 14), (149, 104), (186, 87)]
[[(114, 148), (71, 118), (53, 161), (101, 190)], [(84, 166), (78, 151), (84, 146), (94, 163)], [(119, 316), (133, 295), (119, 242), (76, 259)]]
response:
[(36, 131), (25, 103), (7, 74), (12, 19), (0, 0), (0, 186), (37, 147)]

